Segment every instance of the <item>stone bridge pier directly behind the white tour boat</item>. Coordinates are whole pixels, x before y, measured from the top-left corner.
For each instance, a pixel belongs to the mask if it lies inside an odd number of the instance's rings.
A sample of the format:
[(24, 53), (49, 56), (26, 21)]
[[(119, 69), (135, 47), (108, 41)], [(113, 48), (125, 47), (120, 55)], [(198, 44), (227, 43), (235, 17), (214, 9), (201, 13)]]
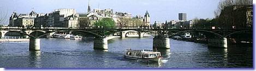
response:
[(170, 49), (170, 38), (167, 37), (154, 37), (153, 49)]

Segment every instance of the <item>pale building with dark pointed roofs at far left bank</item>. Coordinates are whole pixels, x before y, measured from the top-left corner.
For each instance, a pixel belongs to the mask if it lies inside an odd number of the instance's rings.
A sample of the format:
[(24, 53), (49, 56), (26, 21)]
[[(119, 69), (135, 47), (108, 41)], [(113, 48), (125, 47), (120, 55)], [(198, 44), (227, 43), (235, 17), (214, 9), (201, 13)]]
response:
[(37, 13), (32, 10), (29, 14), (19, 14), (16, 11), (10, 16), (10, 26), (15, 27), (34, 27), (34, 19), (37, 17)]

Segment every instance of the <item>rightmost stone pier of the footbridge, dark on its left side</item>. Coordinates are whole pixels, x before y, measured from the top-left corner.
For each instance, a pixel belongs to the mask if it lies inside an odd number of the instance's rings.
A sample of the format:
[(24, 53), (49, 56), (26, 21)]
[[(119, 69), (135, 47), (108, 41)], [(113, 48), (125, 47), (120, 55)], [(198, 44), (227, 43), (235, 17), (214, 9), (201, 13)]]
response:
[(227, 41), (227, 38), (221, 38), (221, 39), (212, 38), (212, 39), (208, 39), (208, 46), (228, 48), (228, 41)]

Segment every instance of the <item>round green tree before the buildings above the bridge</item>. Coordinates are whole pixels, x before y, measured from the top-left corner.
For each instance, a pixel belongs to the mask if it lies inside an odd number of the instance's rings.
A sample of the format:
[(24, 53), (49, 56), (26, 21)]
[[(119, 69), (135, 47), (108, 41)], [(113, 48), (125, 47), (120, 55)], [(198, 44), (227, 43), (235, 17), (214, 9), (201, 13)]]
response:
[(104, 27), (104, 28), (115, 28), (115, 21), (112, 18), (102, 18), (98, 22), (94, 23), (94, 27)]

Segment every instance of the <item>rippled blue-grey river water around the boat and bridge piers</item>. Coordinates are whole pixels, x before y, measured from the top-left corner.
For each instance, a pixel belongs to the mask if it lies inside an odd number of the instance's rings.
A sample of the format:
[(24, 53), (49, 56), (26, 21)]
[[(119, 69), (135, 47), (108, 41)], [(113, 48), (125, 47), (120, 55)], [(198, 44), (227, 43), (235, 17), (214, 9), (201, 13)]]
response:
[(29, 51), (29, 42), (0, 42), (0, 67), (4, 68), (252, 68), (252, 46), (210, 48), (207, 44), (170, 40), (160, 50), (162, 62), (123, 58), (124, 50), (152, 49), (152, 38), (114, 38), (108, 50), (94, 50), (93, 40), (40, 38), (41, 50)]

